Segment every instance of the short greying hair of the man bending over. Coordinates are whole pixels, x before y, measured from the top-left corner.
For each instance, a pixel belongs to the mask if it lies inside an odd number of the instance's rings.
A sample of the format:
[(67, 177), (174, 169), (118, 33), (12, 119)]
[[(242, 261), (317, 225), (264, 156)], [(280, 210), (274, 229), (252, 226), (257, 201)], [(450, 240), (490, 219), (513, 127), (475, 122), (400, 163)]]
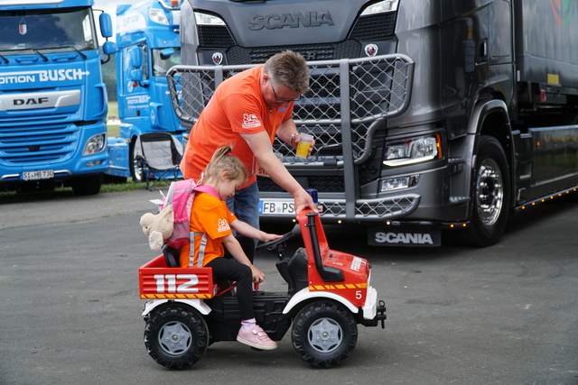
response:
[(275, 85), (281, 84), (300, 94), (309, 90), (309, 67), (305, 58), (293, 50), (273, 55), (264, 69)]

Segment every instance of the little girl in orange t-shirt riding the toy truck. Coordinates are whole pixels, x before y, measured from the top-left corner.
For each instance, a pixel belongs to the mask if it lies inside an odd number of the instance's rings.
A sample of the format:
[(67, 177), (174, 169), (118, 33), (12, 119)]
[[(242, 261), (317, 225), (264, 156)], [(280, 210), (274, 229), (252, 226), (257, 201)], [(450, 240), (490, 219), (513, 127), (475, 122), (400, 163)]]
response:
[[(237, 297), (241, 310), (241, 328), (237, 341), (257, 349), (273, 350), (277, 344), (256, 325), (253, 313), (252, 281), (260, 283), (265, 274), (247, 258), (231, 228), (238, 234), (262, 242), (281, 235), (267, 234), (237, 219), (224, 201), (235, 195), (235, 189), (247, 180), (247, 170), (238, 157), (231, 155), (232, 146), (220, 147), (212, 156), (191, 206), (191, 244), (181, 249), (181, 267), (210, 267), (213, 277), (237, 281)], [(223, 258), (223, 244), (235, 261)]]

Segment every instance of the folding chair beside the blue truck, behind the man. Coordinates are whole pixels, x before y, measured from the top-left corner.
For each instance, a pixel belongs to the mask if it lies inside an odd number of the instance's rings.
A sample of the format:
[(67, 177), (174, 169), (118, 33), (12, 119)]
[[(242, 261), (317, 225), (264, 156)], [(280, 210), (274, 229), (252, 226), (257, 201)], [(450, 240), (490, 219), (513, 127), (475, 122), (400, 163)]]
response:
[(135, 160), (141, 163), (149, 190), (178, 179), (181, 159), (182, 143), (172, 133), (142, 133), (136, 138)]

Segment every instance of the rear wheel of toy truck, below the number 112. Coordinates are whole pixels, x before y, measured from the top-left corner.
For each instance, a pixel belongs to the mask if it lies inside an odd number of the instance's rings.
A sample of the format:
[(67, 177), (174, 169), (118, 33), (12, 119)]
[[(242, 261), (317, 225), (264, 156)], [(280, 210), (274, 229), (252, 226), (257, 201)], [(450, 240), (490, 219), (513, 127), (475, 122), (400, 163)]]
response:
[(191, 367), (206, 352), (209, 330), (191, 307), (162, 307), (146, 322), (144, 345), (154, 361), (168, 369)]

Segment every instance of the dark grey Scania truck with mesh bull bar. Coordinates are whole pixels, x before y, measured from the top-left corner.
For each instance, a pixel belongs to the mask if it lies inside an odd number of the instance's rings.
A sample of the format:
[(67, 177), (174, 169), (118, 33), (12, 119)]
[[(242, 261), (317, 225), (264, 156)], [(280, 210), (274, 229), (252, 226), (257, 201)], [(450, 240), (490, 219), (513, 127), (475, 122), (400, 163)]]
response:
[[(223, 79), (300, 52), (312, 79), (294, 118), (316, 146), (274, 147), (323, 221), (368, 225), (376, 245), (458, 228), (490, 245), (511, 213), (576, 189), (577, 3), (183, 0), (173, 105), (191, 129)], [(262, 219), (294, 218), (258, 184)]]

